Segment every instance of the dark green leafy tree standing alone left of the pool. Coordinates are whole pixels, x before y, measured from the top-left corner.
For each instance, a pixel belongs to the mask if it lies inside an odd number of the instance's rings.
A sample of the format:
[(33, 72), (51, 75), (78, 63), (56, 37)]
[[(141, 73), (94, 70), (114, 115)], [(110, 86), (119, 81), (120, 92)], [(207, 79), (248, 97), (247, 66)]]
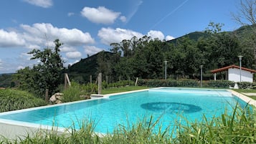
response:
[(46, 89), (49, 90), (49, 95), (56, 92), (63, 69), (63, 61), (60, 56), (60, 46), (62, 45), (59, 39), (54, 41), (54, 49), (33, 49), (33, 57), (31, 59), (39, 59), (40, 63), (34, 65), (33, 68), (26, 67), (18, 70), (14, 75), (14, 80), (19, 82), (19, 87), (22, 90), (34, 92), (39, 97), (44, 96)]

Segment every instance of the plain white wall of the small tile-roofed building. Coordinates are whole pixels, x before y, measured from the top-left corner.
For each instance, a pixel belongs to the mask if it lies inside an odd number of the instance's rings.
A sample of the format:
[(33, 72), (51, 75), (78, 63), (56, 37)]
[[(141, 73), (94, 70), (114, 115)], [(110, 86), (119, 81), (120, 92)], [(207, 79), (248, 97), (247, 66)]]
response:
[[(230, 81), (240, 82), (240, 69), (230, 68), (228, 69), (228, 77)], [(242, 82), (252, 82), (253, 75), (251, 72), (241, 69), (241, 81)]]

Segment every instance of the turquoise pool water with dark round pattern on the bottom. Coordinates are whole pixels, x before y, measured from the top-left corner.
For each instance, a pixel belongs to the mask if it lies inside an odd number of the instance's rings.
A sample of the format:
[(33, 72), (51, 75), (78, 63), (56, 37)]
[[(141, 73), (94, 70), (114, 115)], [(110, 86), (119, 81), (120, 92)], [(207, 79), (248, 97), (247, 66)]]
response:
[(161, 117), (163, 128), (173, 125), (180, 115), (188, 120), (201, 120), (202, 115), (216, 117), (225, 110), (232, 112), (237, 100), (226, 90), (162, 87), (37, 110), (6, 112), (0, 119), (39, 125), (54, 123), (62, 128), (69, 128), (73, 123), (75, 128), (80, 128), (82, 120), (93, 120), (97, 124), (95, 132), (111, 133), (118, 124), (136, 123), (151, 115)]

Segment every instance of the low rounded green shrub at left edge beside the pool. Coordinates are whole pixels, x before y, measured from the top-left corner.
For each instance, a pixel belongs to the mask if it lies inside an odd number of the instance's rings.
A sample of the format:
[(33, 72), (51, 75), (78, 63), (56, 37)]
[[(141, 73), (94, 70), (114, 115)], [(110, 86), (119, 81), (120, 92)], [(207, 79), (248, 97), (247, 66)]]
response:
[(0, 112), (46, 105), (44, 100), (22, 90), (0, 90)]

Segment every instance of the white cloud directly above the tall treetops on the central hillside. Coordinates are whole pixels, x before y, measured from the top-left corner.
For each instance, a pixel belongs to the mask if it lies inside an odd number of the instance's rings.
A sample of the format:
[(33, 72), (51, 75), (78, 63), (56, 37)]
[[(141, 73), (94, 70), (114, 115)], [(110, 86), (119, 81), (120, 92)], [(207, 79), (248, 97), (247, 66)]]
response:
[(103, 44), (111, 44), (114, 42), (121, 42), (123, 39), (131, 39), (132, 37), (143, 37), (143, 34), (131, 31), (129, 29), (111, 29), (111, 28), (102, 28), (98, 32), (98, 37)]

